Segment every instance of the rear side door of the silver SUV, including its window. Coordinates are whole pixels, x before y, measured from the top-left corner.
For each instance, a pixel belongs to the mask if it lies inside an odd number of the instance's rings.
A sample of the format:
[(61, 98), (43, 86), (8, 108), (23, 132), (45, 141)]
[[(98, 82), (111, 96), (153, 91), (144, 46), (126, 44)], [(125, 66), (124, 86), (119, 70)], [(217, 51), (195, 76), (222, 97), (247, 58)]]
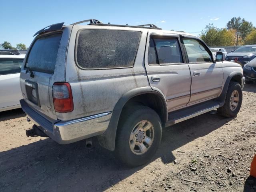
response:
[(148, 34), (145, 66), (152, 89), (166, 97), (168, 112), (186, 106), (190, 99), (190, 70), (177, 34)]

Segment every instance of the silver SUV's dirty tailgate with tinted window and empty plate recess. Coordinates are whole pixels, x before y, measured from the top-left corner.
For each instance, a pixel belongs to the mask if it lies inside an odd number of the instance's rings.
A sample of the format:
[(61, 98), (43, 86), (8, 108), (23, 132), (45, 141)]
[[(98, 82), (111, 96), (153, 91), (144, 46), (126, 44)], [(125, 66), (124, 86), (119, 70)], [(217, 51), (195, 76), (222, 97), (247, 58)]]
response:
[(66, 51), (72, 27), (38, 35), (20, 73), (24, 100), (38, 113), (57, 120), (52, 98), (54, 82), (65, 81)]

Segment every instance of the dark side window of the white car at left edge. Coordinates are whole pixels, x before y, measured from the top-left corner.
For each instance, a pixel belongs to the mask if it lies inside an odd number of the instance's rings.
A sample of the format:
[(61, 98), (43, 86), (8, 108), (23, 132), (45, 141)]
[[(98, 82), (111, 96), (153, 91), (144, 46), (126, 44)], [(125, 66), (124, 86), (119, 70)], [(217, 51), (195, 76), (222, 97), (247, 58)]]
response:
[(0, 75), (19, 73), (23, 59), (0, 59)]

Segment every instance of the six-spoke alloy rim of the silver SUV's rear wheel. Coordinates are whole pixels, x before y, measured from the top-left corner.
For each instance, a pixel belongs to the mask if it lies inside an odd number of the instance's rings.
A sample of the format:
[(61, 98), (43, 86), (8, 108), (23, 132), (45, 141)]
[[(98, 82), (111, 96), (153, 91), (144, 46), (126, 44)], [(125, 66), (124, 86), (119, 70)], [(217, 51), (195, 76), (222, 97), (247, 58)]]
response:
[(129, 145), (134, 154), (144, 154), (152, 146), (154, 127), (149, 121), (140, 121), (134, 126), (130, 134)]

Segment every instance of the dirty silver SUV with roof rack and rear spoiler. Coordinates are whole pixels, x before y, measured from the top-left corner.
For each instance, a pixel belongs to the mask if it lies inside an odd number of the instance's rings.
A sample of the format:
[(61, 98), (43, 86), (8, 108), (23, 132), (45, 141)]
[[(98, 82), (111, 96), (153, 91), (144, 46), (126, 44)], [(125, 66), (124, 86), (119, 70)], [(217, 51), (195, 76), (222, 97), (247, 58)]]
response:
[[(78, 25), (90, 22), (88, 25)], [(129, 166), (150, 160), (162, 128), (217, 109), (234, 117), (243, 70), (198, 37), (149, 24), (85, 20), (38, 31), (24, 60), (27, 136), (68, 144), (97, 136)]]

